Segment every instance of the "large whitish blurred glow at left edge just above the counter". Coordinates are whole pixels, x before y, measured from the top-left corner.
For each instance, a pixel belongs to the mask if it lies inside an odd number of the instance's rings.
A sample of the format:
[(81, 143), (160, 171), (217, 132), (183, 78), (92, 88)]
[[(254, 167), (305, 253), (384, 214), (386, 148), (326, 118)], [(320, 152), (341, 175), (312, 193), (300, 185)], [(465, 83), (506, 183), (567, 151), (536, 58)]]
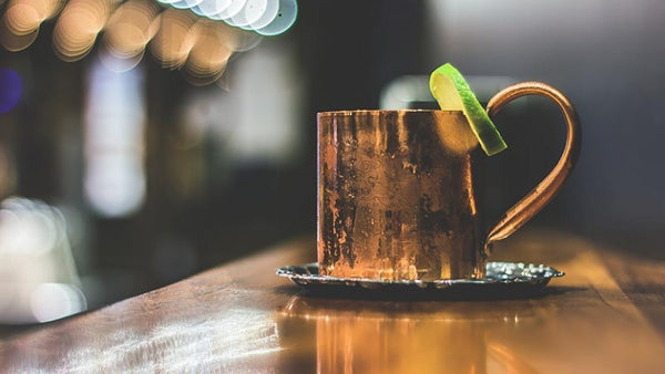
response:
[(0, 201), (0, 323), (48, 322), (86, 309), (66, 224), (40, 200)]

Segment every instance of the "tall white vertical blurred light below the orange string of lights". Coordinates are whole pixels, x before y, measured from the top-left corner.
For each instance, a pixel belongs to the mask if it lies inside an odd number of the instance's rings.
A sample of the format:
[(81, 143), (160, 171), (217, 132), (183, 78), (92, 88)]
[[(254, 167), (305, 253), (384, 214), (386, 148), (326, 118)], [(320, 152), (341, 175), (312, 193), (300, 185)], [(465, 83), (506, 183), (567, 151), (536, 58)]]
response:
[(124, 72), (95, 63), (86, 79), (83, 188), (92, 210), (127, 217), (146, 195), (143, 69)]

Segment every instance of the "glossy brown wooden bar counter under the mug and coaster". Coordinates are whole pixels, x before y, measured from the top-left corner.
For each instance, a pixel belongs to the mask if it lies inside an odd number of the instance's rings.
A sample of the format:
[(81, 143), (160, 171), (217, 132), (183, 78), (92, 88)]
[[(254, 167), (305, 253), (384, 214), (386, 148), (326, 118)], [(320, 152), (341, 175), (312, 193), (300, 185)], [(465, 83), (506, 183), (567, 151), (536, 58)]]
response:
[[(221, 249), (223, 250), (223, 248)], [(2, 373), (665, 373), (665, 263), (525, 230), (492, 260), (566, 273), (526, 299), (314, 297), (267, 249), (0, 342)]]

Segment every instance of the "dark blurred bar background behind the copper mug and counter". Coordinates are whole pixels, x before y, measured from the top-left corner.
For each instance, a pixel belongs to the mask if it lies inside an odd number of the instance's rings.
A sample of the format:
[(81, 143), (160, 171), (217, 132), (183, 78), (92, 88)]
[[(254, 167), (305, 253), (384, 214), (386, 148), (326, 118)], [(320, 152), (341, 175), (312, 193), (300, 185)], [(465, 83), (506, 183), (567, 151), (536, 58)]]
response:
[[(29, 46), (0, 52), (0, 67), (22, 82), (18, 104), (0, 114), (0, 194), (62, 215), (70, 278), (89, 309), (314, 236), (316, 113), (388, 107), (400, 90), (409, 92), (402, 107), (432, 107), (427, 85), (424, 95), (411, 85), (426, 84), (444, 62), (469, 76), (481, 101), (504, 83), (538, 80), (576, 105), (577, 167), (526, 228), (665, 258), (665, 3), (298, 6), (288, 31), (235, 52), (214, 82), (149, 52), (133, 69), (109, 70), (99, 41), (69, 61), (53, 46), (55, 19)], [(495, 216), (549, 172), (563, 146), (562, 116), (546, 100), (520, 100), (497, 123), (510, 148), (487, 160), (483, 199)], [(17, 216), (21, 204), (3, 208)], [(40, 271), (25, 263), (14, 271)]]

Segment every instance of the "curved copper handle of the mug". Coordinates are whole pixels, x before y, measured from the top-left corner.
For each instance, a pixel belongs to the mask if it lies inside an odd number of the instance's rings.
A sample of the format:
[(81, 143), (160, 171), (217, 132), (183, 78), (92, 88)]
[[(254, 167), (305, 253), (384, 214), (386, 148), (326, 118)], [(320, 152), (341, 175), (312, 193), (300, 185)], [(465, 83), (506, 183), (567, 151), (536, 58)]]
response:
[(575, 166), (580, 155), (582, 132), (575, 108), (567, 97), (551, 85), (541, 82), (513, 84), (503, 89), (490, 100), (487, 112), (490, 116), (493, 116), (503, 105), (525, 95), (545, 96), (559, 105), (566, 123), (565, 147), (552, 172), (518, 204), (508, 209), (497, 226), (489, 231), (485, 240), (487, 250), (491, 249), (493, 242), (505, 239), (515, 232), (554, 198)]

